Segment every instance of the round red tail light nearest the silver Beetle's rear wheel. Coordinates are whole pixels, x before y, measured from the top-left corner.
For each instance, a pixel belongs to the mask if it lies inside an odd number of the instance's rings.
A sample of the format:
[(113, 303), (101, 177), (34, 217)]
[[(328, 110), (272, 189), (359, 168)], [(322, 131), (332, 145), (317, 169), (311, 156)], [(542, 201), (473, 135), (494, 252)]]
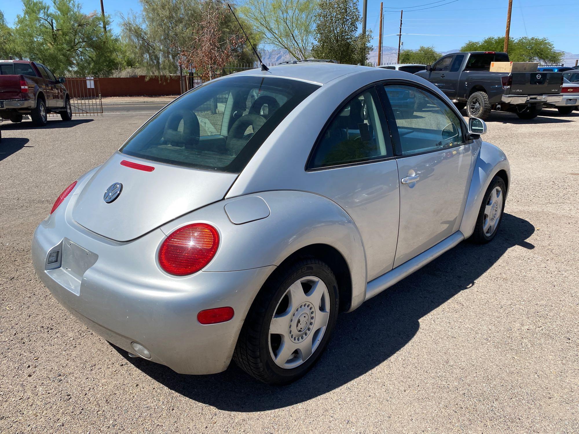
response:
[(159, 249), (159, 265), (169, 274), (185, 276), (203, 269), (217, 252), (217, 229), (205, 223), (180, 227)]

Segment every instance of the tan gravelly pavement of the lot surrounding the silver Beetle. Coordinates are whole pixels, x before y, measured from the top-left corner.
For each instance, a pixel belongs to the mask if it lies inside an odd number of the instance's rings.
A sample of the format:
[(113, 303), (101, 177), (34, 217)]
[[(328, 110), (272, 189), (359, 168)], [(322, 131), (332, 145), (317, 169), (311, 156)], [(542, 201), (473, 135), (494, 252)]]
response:
[(0, 125), (0, 432), (579, 432), (579, 113), (494, 113), (513, 177), (494, 241), (340, 315), (284, 388), (129, 359), (36, 278), (35, 226), (147, 117)]

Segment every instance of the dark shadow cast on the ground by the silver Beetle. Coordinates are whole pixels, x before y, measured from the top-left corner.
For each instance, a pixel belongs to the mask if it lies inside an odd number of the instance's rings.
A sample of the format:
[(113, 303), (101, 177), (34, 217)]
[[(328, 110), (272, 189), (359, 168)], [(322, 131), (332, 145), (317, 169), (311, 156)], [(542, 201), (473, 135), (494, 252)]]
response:
[(188, 376), (144, 359), (129, 358), (126, 351), (117, 350), (153, 380), (221, 410), (262, 411), (305, 402), (387, 361), (412, 340), (420, 328), (420, 318), (472, 288), (507, 249), (515, 245), (533, 249), (534, 245), (526, 241), (533, 232), (534, 226), (527, 220), (505, 214), (499, 234), (489, 244), (462, 242), (354, 312), (339, 315), (334, 337), (317, 365), (305, 377), (284, 387), (262, 384), (233, 362), (220, 374)]

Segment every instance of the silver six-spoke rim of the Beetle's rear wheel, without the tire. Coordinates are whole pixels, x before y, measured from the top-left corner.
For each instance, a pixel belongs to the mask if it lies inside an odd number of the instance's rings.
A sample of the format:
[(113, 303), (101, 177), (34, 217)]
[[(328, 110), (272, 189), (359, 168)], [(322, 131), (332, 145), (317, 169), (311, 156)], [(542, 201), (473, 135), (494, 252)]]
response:
[(277, 366), (302, 365), (317, 350), (329, 321), (329, 291), (315, 276), (295, 281), (277, 303), (269, 325), (269, 352)]

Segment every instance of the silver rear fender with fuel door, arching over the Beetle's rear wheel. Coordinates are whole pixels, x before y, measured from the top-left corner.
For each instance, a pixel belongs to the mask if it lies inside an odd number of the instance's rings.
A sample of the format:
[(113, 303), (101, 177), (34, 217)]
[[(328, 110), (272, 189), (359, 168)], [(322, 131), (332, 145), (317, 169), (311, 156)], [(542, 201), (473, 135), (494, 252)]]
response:
[[(242, 198), (249, 197), (261, 197), (270, 209), (269, 216), (258, 216), (259, 219), (243, 224), (232, 223), (225, 205), (240, 200), (233, 197), (190, 212), (162, 226), (161, 230), (170, 234), (178, 227), (195, 222), (216, 227), (219, 248), (204, 272), (279, 266), (303, 247), (327, 244), (343, 256), (349, 267), (350, 310), (362, 304), (367, 283), (364, 245), (355, 223), (339, 205), (318, 194), (295, 190), (254, 193)], [(258, 290), (253, 288), (252, 297)]]

